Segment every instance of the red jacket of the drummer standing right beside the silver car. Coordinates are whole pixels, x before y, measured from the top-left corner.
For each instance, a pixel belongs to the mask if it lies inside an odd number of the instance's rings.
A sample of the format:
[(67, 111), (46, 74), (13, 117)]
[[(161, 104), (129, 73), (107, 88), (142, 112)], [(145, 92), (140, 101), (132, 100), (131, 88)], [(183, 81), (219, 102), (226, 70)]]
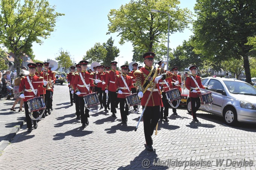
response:
[[(197, 81), (199, 88), (206, 89), (206, 87), (202, 85), (200, 76), (197, 76), (197, 75), (192, 75), (192, 76)], [(192, 98), (197, 98), (201, 94), (200, 89), (198, 89), (197, 85), (195, 84), (195, 81), (189, 75), (187, 76), (187, 79), (186, 79), (186, 87), (187, 89), (189, 89), (189, 96)], [(192, 93), (192, 90), (197, 90), (198, 92)]]

